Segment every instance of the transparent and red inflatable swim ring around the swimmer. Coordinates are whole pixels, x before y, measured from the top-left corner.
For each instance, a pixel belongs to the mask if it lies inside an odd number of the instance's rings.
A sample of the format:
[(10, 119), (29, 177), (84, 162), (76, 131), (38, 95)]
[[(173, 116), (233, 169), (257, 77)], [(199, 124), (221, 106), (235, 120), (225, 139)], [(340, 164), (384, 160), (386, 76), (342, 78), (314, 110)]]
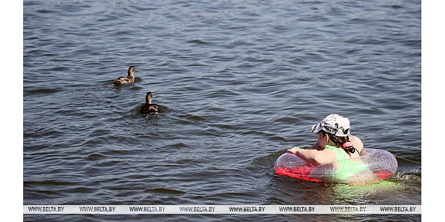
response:
[[(332, 183), (369, 183), (396, 173), (398, 164), (391, 152), (370, 148), (366, 150), (370, 152), (367, 155), (323, 165), (315, 165), (298, 155), (284, 153), (275, 161), (275, 172), (307, 181)], [(342, 169), (341, 166), (348, 168)]]

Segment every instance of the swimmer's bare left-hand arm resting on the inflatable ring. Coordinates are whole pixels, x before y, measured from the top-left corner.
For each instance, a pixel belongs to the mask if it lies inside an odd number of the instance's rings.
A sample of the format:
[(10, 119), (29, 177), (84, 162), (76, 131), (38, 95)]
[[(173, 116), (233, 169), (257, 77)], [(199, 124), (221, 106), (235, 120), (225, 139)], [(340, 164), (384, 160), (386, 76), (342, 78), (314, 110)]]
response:
[(332, 149), (315, 150), (294, 147), (288, 149), (287, 152), (299, 155), (309, 162), (318, 165), (330, 163), (337, 159), (337, 157), (335, 156), (335, 152)]

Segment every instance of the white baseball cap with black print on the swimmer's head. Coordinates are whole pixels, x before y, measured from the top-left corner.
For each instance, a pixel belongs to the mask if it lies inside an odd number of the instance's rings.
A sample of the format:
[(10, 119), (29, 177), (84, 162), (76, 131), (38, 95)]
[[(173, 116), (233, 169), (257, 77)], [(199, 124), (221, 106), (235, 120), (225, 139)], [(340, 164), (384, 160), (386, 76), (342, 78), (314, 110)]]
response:
[(339, 114), (329, 114), (320, 123), (312, 126), (312, 132), (318, 133), (320, 130), (338, 136), (346, 137), (351, 132), (349, 119)]

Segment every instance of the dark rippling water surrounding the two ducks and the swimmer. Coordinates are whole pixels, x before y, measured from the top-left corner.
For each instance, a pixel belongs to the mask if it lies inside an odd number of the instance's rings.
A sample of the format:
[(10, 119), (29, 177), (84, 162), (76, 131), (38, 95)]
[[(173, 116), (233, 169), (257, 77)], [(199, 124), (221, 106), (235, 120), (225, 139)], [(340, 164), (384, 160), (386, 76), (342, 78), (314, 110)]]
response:
[[(420, 205), (421, 4), (23, 3), (24, 205)], [(107, 87), (135, 66), (136, 83)], [(165, 111), (138, 114), (147, 91)], [(329, 113), (397, 174), (278, 176)], [(24, 215), (24, 220), (416, 221), (420, 215)]]

